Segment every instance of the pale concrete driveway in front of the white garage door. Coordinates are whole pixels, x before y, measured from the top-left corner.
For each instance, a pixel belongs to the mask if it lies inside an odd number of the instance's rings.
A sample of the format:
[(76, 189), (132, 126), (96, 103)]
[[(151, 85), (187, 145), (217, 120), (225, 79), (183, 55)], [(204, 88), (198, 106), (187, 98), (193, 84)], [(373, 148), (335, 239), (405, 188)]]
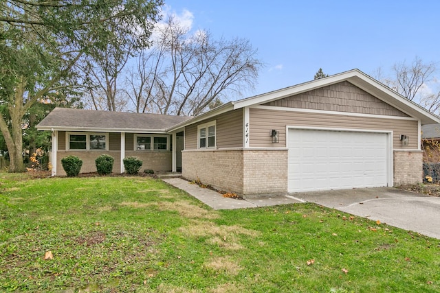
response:
[(440, 198), (391, 187), (291, 194), (307, 202), (338, 209), (440, 239)]

